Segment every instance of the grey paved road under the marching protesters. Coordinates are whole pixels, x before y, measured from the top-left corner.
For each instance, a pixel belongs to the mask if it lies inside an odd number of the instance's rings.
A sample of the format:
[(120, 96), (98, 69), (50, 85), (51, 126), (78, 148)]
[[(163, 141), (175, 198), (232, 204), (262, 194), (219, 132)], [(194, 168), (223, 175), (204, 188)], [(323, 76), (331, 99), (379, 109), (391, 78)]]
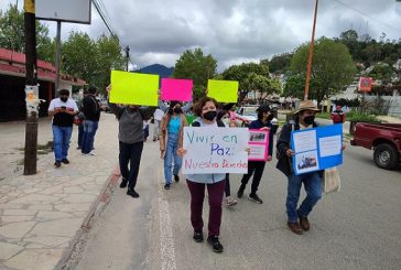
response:
[[(163, 190), (158, 150), (145, 143), (141, 198), (116, 190), (77, 269), (401, 269), (401, 169), (377, 169), (368, 150), (348, 147), (342, 192), (318, 203), (303, 236), (286, 228), (285, 179), (268, 164), (259, 191), (264, 203), (242, 198), (225, 207), (220, 255), (192, 240), (187, 187)], [(236, 193), (240, 177), (231, 179)]]

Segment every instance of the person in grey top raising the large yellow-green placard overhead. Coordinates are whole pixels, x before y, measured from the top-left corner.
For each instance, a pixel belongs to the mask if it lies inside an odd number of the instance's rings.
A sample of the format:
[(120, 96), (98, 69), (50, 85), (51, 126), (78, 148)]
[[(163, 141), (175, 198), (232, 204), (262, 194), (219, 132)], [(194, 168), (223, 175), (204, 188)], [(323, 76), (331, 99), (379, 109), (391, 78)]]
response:
[[(107, 87), (106, 90), (110, 94), (111, 87)], [(119, 164), (122, 175), (120, 187), (124, 188), (128, 184), (127, 195), (137, 198), (139, 194), (134, 187), (143, 150), (143, 120), (149, 120), (150, 116), (145, 109), (134, 105), (119, 106), (109, 102), (109, 106), (119, 123)], [(130, 164), (130, 169), (128, 169), (128, 164)]]

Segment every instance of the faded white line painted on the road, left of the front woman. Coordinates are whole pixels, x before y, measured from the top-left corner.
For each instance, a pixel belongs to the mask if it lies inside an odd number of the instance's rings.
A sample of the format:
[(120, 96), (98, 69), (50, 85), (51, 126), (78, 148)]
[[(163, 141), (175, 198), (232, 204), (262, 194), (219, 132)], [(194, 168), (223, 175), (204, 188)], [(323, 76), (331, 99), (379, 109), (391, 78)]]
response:
[[(160, 166), (159, 166), (160, 168)], [(159, 177), (161, 177), (161, 170), (159, 171)], [(162, 270), (175, 270), (175, 253), (174, 253), (174, 240), (173, 229), (171, 224), (171, 215), (169, 202), (163, 197), (163, 193), (158, 183), (159, 188), (159, 226), (160, 226), (160, 262)]]

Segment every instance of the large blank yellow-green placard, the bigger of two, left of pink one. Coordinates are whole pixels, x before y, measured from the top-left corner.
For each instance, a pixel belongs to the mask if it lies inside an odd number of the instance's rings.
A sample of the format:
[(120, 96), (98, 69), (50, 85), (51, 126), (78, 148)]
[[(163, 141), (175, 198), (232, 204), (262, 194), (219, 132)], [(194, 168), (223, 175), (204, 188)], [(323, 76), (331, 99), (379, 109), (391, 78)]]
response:
[(158, 106), (159, 75), (111, 71), (112, 104)]

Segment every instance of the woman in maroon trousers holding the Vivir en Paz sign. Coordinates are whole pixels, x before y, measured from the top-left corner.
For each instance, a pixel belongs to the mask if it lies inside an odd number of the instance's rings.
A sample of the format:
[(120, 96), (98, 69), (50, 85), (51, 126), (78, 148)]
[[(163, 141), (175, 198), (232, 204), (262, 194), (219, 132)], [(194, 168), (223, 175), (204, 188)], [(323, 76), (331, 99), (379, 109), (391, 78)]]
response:
[[(192, 127), (215, 128), (225, 127), (221, 121), (217, 121), (218, 104), (214, 98), (204, 97), (195, 106), (195, 115), (198, 117), (192, 123)], [(180, 140), (182, 143), (183, 139)], [(180, 156), (184, 156), (186, 150), (180, 144), (177, 151)], [(202, 242), (204, 240), (202, 218), (203, 204), (205, 198), (205, 187), (209, 195), (209, 222), (207, 242), (212, 246), (213, 251), (223, 252), (223, 245), (219, 241), (221, 224), (221, 202), (225, 191), (225, 173), (210, 174), (187, 174), (186, 183), (191, 193), (191, 223), (194, 228), (194, 240)]]

